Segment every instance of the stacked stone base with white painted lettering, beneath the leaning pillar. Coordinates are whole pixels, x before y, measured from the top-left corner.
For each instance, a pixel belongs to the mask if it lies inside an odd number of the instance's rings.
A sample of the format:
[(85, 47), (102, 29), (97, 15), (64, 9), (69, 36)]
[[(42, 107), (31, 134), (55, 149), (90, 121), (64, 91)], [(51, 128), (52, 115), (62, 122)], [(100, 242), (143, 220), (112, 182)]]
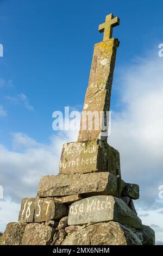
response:
[[(78, 166), (65, 168), (75, 152)], [(99, 172), (106, 156), (110, 172)], [(66, 143), (60, 173), (43, 176), (37, 197), (22, 200), (18, 222), (7, 225), (2, 244), (154, 245), (154, 231), (134, 208), (139, 186), (121, 180), (120, 170), (116, 175), (119, 165), (118, 151), (101, 140)]]

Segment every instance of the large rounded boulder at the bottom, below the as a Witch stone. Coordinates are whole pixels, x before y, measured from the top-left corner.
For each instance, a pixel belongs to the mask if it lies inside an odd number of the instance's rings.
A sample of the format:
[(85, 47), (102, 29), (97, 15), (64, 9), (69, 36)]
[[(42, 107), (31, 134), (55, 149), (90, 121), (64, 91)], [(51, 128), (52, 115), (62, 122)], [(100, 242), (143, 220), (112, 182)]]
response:
[(62, 245), (142, 245), (139, 237), (117, 222), (96, 223), (68, 235)]

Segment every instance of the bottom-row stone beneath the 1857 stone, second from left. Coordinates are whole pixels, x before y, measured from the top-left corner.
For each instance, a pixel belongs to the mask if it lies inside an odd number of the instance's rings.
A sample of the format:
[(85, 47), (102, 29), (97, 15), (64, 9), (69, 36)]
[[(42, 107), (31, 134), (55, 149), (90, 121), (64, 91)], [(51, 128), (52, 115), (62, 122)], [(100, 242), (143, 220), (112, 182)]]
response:
[(29, 223), (23, 234), (22, 245), (50, 245), (54, 229), (40, 223)]

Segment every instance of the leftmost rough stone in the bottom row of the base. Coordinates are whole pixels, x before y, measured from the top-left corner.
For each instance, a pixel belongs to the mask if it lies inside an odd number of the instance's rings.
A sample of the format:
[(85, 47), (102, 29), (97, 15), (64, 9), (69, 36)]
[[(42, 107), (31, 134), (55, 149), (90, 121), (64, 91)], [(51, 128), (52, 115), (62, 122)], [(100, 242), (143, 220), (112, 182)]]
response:
[(25, 222), (10, 222), (2, 236), (2, 245), (21, 245)]

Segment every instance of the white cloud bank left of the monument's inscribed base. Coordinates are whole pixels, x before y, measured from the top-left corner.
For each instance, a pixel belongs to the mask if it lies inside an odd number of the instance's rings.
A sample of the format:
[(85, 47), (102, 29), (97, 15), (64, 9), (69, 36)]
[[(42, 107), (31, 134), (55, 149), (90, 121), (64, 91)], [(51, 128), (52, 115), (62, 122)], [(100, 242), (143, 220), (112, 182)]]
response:
[(66, 141), (77, 139), (75, 132), (53, 136), (49, 144), (37, 143), (22, 133), (13, 133), (14, 149), (9, 151), (0, 144), (0, 180), (4, 197), (20, 202), (23, 197), (36, 196), (39, 180), (43, 175), (57, 174), (61, 147)]

